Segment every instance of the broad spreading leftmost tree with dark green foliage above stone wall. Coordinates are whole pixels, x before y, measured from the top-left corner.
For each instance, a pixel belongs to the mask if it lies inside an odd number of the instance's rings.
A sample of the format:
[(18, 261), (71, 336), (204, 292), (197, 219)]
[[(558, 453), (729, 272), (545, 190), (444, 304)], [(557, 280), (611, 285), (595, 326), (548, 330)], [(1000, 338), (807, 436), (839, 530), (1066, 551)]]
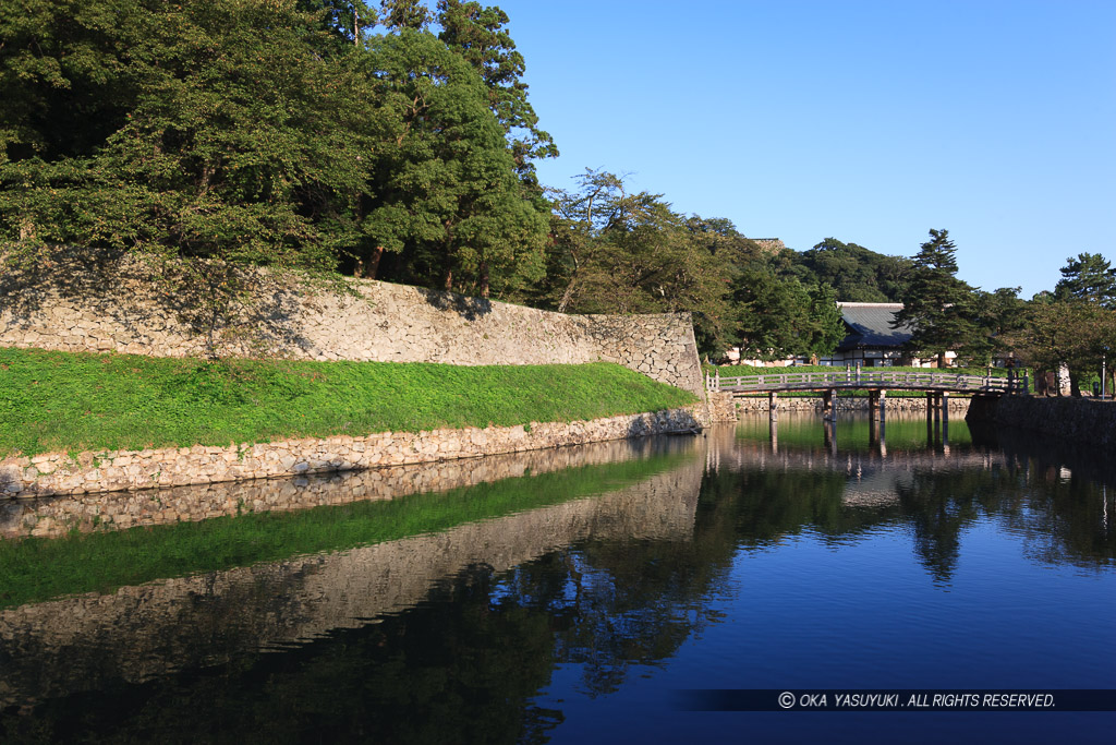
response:
[[(96, 69), (66, 63), (68, 41), (48, 45), (55, 57), (40, 67), (71, 65), (75, 80), (32, 77), (16, 90), (31, 103), (0, 166), (0, 235), (32, 255), (67, 243), (331, 269), (359, 231), (353, 206), (376, 113), (357, 105), (366, 86), (331, 55), (321, 13), (294, 2), (121, 7), (129, 12), (117, 25), (88, 31)], [(115, 3), (66, 8), (98, 19), (93, 9), (110, 15)], [(31, 29), (26, 44), (55, 34)], [(108, 124), (71, 117), (81, 135), (67, 144), (39, 117), (65, 109), (86, 79), (108, 98), (84, 114)], [(61, 103), (33, 103), (52, 96)]]

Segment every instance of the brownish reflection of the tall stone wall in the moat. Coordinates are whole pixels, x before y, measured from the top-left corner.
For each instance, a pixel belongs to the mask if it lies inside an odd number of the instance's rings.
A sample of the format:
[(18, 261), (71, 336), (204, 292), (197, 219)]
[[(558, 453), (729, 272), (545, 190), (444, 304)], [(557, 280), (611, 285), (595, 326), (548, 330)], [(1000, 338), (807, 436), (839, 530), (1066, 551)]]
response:
[[(594, 448), (580, 458), (631, 457), (614, 447)], [(680, 441), (679, 447), (692, 450), (694, 457), (674, 470), (599, 497), (337, 554), (2, 611), (0, 706), (103, 689), (113, 680), (137, 682), (220, 663), (260, 647), (280, 648), (357, 628), (421, 603), (439, 583), (478, 564), (501, 572), (586, 538), (689, 539), (703, 462), (698, 442)], [(535, 467), (532, 462), (521, 456), (516, 465), (489, 467), (521, 475)], [(434, 477), (411, 474), (408, 478), (408, 484), (426, 484), (423, 479)], [(334, 481), (334, 489), (353, 493), (348, 479)], [(323, 483), (309, 490), (327, 498), (330, 488)]]

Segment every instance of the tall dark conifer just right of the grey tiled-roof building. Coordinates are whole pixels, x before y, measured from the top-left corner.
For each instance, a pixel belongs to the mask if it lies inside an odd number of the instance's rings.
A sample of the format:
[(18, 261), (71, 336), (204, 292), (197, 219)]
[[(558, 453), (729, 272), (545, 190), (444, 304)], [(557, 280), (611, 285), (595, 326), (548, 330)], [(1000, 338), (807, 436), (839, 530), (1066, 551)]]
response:
[(971, 345), (978, 329), (969, 315), (972, 288), (958, 279), (956, 246), (947, 230), (930, 231), (914, 257), (911, 285), (903, 298), (903, 309), (895, 314), (893, 327), (911, 324), (914, 333), (907, 343), (913, 352), (937, 355), (945, 366), (945, 353)]

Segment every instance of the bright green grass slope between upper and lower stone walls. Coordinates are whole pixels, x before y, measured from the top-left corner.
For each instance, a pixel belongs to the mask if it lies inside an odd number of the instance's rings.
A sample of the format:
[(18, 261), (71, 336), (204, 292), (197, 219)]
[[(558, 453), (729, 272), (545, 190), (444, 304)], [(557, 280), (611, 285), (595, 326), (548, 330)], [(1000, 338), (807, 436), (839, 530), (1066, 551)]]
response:
[(205, 362), (0, 348), (0, 458), (578, 421), (694, 401), (607, 363)]

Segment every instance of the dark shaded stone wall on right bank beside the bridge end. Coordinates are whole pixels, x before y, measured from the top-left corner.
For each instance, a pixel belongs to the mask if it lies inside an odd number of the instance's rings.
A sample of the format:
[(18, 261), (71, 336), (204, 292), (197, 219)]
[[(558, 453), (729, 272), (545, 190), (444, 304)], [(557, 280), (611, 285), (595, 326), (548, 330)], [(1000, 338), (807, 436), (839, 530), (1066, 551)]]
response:
[(974, 417), (1018, 429), (1086, 442), (1094, 447), (1116, 447), (1116, 402), (1093, 399), (1004, 395), (984, 399)]

